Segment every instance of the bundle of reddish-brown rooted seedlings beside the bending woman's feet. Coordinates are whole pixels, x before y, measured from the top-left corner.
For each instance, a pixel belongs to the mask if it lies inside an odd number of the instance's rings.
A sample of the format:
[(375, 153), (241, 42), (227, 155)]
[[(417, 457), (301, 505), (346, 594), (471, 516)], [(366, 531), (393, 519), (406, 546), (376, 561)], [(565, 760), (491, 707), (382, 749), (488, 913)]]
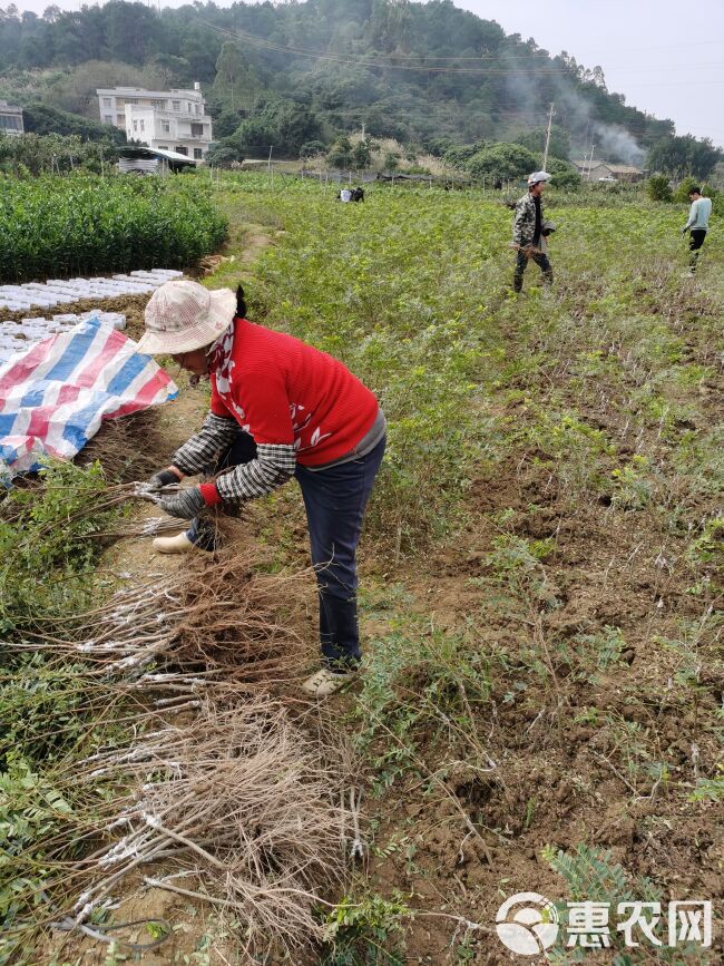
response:
[[(125, 588), (95, 609), (59, 622), (56, 657), (85, 660), (134, 689), (185, 694), (199, 682), (238, 691), (271, 686), (302, 670), (307, 648), (285, 617), (300, 606), (294, 574), (258, 574), (248, 549), (189, 559), (173, 576)], [(25, 650), (47, 647), (28, 630)], [(192, 683), (189, 683), (192, 682)]]

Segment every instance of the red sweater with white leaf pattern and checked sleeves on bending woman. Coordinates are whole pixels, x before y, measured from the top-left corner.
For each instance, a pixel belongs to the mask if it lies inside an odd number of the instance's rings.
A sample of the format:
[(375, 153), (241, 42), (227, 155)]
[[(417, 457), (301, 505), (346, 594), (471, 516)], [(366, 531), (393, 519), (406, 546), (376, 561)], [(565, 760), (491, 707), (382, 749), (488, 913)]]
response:
[(378, 401), (337, 359), (305, 342), (235, 319), (209, 357), (212, 404), (199, 433), (175, 455), (184, 474), (198, 472), (242, 427), (257, 458), (202, 492), (207, 502), (268, 492), (296, 464), (317, 467), (351, 452), (372, 428)]

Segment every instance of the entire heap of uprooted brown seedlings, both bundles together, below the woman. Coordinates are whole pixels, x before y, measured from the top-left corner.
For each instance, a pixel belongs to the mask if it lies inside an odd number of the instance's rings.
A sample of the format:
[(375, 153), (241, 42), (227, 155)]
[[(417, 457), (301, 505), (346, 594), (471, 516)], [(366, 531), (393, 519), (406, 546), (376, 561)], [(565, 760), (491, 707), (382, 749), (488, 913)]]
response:
[(143, 881), (228, 911), (250, 963), (268, 949), (299, 962), (321, 939), (319, 908), (339, 895), (355, 835), (353, 768), (331, 718), (295, 693), (299, 583), (227, 552), (58, 622), (55, 658), (87, 661), (135, 734), (110, 730), (56, 774), (88, 802), (66, 829), (84, 858), (62, 860), (67, 835), (42, 843), (60, 859), (49, 910), (66, 928)]

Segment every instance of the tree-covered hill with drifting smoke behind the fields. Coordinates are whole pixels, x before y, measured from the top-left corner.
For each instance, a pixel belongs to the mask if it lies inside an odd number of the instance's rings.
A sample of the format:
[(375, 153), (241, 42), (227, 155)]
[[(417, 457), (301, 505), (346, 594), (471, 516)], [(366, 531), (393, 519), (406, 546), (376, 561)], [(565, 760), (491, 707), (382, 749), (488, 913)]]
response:
[(600, 67), (551, 57), (451, 0), (160, 11), (110, 2), (74, 12), (49, 7), (42, 17), (11, 6), (0, 10), (0, 96), (96, 118), (97, 86), (198, 80), (219, 135), (245, 121), (262, 142), (273, 116), (276, 143), (288, 153), (362, 125), (418, 145), (524, 140), (545, 126), (551, 101), (556, 135), (576, 153), (596, 142), (609, 159), (637, 163), (674, 133), (672, 121), (609, 92)]

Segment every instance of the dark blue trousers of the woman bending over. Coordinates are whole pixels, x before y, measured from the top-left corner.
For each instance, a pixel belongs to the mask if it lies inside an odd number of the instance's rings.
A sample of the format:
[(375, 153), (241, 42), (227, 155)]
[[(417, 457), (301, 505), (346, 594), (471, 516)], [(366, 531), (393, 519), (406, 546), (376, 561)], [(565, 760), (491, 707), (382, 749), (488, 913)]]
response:
[[(366, 456), (316, 472), (297, 464), (294, 474), (302, 488), (310, 528), (320, 594), (322, 655), (333, 670), (344, 671), (360, 663), (356, 545), (385, 441), (381, 439)], [(255, 456), (253, 438), (239, 431), (215, 471), (248, 462)], [(196, 521), (188, 537), (204, 546), (203, 531)]]

